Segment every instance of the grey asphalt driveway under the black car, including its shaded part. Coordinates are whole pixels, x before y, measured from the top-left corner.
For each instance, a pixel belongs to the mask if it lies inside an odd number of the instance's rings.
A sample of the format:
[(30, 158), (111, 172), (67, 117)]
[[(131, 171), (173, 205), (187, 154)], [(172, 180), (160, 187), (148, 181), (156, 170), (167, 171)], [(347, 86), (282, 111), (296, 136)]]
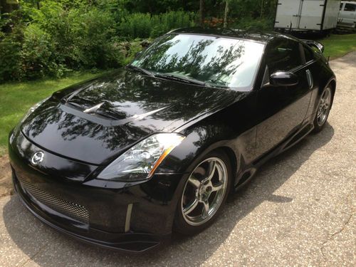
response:
[(330, 124), (262, 167), (203, 233), (127, 256), (58, 234), (12, 195), (0, 198), (0, 266), (356, 266), (356, 52), (330, 64)]

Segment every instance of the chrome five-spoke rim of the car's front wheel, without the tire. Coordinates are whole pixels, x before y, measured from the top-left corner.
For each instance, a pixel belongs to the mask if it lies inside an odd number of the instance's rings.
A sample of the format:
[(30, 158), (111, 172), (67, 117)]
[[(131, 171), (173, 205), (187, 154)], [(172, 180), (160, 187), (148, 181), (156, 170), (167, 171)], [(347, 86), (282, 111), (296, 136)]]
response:
[(182, 215), (187, 224), (199, 226), (209, 221), (218, 211), (228, 184), (224, 161), (210, 157), (190, 174), (182, 197)]

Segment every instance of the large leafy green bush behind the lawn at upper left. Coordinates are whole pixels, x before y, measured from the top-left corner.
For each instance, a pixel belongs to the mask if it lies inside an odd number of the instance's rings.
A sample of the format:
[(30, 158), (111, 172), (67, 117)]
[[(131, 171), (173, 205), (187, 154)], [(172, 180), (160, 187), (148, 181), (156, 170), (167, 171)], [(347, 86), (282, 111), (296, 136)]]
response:
[(42, 1), (41, 9), (25, 6), (25, 11), (29, 22), (10, 33), (0, 31), (1, 81), (122, 66), (111, 13), (85, 5), (66, 9), (51, 0)]

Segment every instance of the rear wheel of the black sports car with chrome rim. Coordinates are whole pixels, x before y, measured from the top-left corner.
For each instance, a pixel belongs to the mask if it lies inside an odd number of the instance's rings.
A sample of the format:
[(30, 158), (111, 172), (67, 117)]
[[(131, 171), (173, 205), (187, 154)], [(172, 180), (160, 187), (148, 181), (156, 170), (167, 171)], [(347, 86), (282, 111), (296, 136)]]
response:
[(320, 132), (325, 127), (325, 124), (328, 120), (331, 102), (333, 100), (333, 91), (330, 88), (330, 85), (323, 90), (321, 98), (318, 103), (317, 112), (314, 119), (314, 130), (313, 132)]

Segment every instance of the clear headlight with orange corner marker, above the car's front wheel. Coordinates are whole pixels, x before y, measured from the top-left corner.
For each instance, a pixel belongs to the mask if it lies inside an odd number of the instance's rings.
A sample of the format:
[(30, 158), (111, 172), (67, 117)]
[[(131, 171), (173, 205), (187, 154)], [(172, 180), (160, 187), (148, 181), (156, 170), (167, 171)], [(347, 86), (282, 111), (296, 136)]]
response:
[(122, 182), (149, 179), (163, 159), (184, 138), (176, 133), (162, 133), (147, 137), (115, 159), (98, 175), (98, 179)]

